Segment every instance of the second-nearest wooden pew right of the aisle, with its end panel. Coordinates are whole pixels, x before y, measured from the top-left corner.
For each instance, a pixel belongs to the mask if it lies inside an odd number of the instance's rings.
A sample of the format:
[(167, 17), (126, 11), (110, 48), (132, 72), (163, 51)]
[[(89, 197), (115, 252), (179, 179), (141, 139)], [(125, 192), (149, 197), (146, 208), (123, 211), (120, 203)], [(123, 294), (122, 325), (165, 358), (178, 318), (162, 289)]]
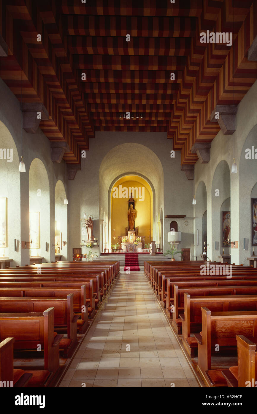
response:
[(216, 372), (212, 371), (212, 352), (219, 345), (220, 366), (226, 366), (226, 357), (223, 357), (224, 347), (236, 349), (236, 335), (244, 334), (252, 342), (256, 342), (257, 311), (211, 312), (208, 308), (202, 309), (202, 332), (194, 334), (198, 343), (197, 369), (207, 386), (221, 387)]

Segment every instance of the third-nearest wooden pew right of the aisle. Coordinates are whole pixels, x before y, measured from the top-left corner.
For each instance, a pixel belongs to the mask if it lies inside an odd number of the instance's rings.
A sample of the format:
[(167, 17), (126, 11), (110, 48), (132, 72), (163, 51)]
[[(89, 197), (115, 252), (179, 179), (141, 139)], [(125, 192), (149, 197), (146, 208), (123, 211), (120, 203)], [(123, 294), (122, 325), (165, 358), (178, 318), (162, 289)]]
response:
[(236, 310), (257, 310), (257, 295), (236, 296), (193, 296), (184, 293), (184, 314), (182, 319), (182, 342), (189, 355), (197, 351), (197, 341), (191, 333), (202, 330), (202, 307), (208, 307), (212, 312)]

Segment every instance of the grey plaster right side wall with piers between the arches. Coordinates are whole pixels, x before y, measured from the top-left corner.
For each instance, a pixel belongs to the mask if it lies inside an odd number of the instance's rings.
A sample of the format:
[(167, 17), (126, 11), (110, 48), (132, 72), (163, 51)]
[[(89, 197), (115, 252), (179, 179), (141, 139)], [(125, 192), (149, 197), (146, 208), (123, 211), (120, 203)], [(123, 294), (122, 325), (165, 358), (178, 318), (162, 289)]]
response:
[[(226, 161), (230, 172), (230, 197), (231, 197), (231, 241), (239, 241), (239, 248), (231, 248), (231, 263), (249, 265), (246, 260), (250, 255), (250, 243), (248, 250), (243, 250), (243, 238), (250, 241), (250, 194), (252, 187), (256, 183), (257, 160), (245, 160), (245, 148), (252, 142), (256, 145), (257, 134), (257, 81), (252, 85), (242, 101), (238, 104), (236, 114), (235, 139), (235, 159), (238, 173), (231, 174), (233, 164), (233, 135), (224, 135), (222, 131), (212, 140), (210, 149), (210, 161), (208, 164), (195, 164), (194, 169), (194, 188), (198, 187), (203, 181), (207, 191), (207, 250), (209, 257), (216, 260), (217, 252), (214, 242), (217, 235), (213, 229), (220, 228), (220, 218), (213, 215), (213, 212), (220, 211), (220, 205), (228, 197), (227, 189), (220, 192), (221, 202), (217, 202), (215, 197), (215, 185), (213, 177), (218, 164)], [(246, 139), (248, 141), (246, 142)], [(226, 187), (226, 186), (225, 186)], [(196, 200), (197, 202), (197, 200)], [(219, 240), (220, 243), (220, 240)]]

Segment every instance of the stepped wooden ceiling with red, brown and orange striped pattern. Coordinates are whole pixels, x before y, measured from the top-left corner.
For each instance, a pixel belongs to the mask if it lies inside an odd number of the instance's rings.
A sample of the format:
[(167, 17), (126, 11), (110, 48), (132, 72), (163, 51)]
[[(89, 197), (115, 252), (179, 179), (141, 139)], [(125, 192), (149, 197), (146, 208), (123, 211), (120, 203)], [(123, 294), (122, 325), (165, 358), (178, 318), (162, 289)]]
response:
[[(237, 105), (257, 79), (257, 62), (247, 58), (257, 34), (257, 1), (0, 5), (0, 33), (8, 45), (0, 77), (20, 101), (22, 88), (23, 102), (45, 105), (49, 120), (40, 128), (50, 141), (67, 142), (64, 159), (70, 164), (80, 164), (96, 131), (167, 132), (182, 164), (194, 164), (193, 144), (211, 142), (219, 132), (210, 122), (215, 106)], [(200, 43), (206, 30), (232, 32), (233, 46)], [(120, 120), (127, 111), (143, 119)]]

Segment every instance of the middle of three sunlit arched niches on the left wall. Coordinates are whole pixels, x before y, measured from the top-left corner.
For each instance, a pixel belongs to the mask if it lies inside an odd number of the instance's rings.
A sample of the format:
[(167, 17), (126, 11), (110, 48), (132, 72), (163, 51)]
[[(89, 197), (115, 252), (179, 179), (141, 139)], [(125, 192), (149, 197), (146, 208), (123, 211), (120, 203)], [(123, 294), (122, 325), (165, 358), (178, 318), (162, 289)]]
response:
[[(34, 158), (29, 168), (29, 229), (30, 256), (50, 261), (50, 194), (49, 180), (42, 161)], [(46, 251), (46, 245), (48, 248)]]

